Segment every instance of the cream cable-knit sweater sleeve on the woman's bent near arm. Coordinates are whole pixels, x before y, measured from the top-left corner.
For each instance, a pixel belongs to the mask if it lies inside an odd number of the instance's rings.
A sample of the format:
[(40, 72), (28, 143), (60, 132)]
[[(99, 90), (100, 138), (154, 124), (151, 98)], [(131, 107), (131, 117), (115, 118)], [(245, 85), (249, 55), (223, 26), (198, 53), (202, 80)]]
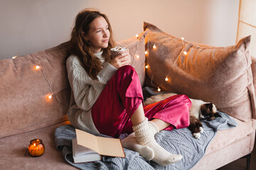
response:
[(92, 80), (80, 60), (75, 55), (71, 55), (67, 60), (68, 81), (74, 94), (75, 103), (84, 111), (90, 111), (102, 90), (111, 79), (116, 68), (105, 62), (102, 70), (97, 74), (97, 79)]

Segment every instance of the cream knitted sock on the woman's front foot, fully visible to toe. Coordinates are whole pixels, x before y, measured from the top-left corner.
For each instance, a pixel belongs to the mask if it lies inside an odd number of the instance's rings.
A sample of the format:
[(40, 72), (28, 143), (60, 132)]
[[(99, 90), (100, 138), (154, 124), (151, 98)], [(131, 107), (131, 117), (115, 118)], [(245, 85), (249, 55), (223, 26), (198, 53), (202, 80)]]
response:
[(140, 145), (150, 147), (154, 150), (154, 158), (152, 161), (162, 166), (166, 166), (182, 159), (180, 154), (171, 154), (156, 142), (154, 135), (152, 135), (155, 130), (153, 126), (149, 126), (147, 118), (142, 123), (134, 125), (132, 128), (135, 132), (137, 142)]

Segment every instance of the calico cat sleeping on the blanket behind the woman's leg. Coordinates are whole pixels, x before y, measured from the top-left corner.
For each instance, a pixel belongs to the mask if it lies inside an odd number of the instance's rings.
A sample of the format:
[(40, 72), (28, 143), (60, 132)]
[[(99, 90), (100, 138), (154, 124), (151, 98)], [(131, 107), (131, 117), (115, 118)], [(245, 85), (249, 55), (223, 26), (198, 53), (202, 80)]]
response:
[[(144, 105), (156, 103), (174, 95), (177, 94), (166, 93), (151, 96), (150, 98), (146, 99)], [(193, 137), (198, 139), (201, 137), (201, 133), (203, 133), (203, 124), (201, 123), (201, 120), (214, 120), (218, 116), (218, 112), (216, 106), (213, 103), (208, 103), (193, 98), (189, 99), (191, 100), (191, 108), (189, 109), (190, 125), (188, 126), (188, 129), (191, 130)]]

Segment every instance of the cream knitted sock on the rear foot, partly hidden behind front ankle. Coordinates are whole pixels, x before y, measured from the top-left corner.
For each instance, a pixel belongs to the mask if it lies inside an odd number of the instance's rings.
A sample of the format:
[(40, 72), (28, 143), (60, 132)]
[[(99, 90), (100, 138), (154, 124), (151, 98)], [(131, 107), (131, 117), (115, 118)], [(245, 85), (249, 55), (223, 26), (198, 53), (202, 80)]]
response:
[[(154, 124), (153, 122), (149, 122), (149, 127), (150, 126), (152, 126), (152, 135), (155, 135), (157, 132), (159, 132), (159, 129), (157, 128), (156, 124)], [(154, 158), (154, 150), (151, 149), (150, 147), (139, 145), (136, 140), (135, 132), (132, 132), (129, 136), (125, 137), (121, 142), (123, 147), (131, 149), (135, 152), (139, 152), (139, 154), (142, 155), (142, 157), (144, 157), (144, 159), (146, 159), (147, 161)]]

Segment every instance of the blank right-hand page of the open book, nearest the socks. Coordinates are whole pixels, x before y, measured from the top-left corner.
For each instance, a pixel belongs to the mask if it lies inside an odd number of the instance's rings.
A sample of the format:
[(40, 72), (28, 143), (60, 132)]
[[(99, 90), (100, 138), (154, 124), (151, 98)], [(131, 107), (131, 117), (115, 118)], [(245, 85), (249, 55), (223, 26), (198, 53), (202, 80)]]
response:
[(100, 154), (111, 157), (125, 157), (124, 149), (119, 139), (97, 137), (97, 140), (99, 142)]

